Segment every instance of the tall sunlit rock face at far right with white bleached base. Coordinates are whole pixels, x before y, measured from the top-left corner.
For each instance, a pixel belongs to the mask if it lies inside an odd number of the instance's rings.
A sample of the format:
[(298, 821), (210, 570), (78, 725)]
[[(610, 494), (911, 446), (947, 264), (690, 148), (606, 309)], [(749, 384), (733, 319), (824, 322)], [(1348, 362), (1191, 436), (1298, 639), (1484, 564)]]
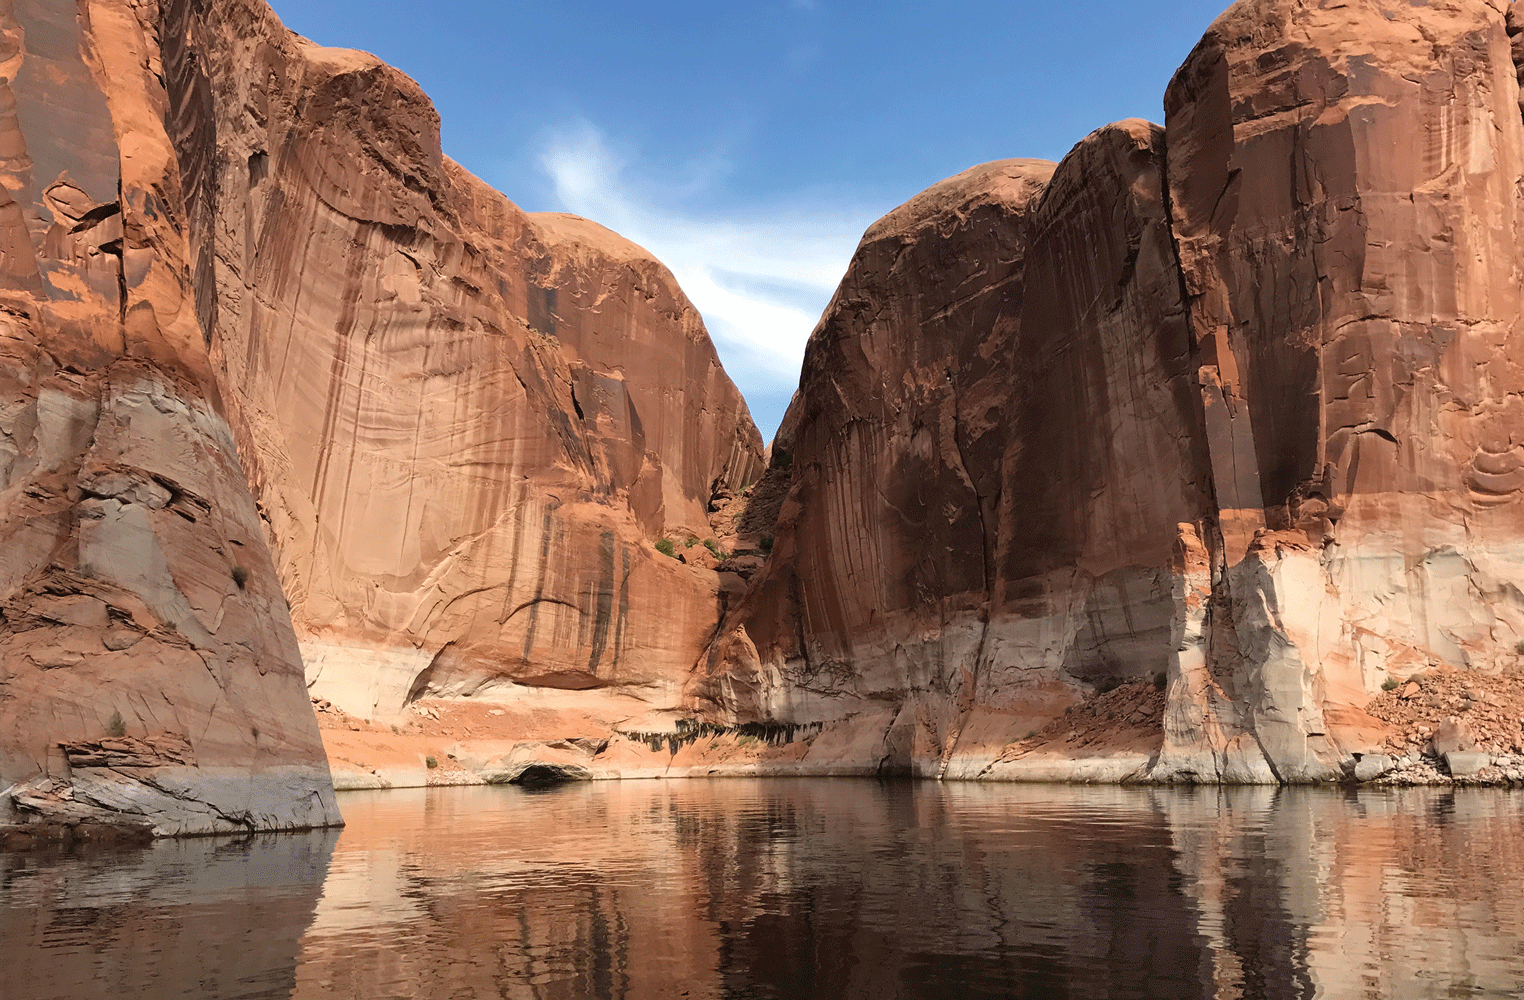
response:
[(1524, 633), (1506, 6), (1239, 3), (1166, 95), (1207, 645), (1283, 780), (1337, 776), (1388, 675), (1494, 668)]

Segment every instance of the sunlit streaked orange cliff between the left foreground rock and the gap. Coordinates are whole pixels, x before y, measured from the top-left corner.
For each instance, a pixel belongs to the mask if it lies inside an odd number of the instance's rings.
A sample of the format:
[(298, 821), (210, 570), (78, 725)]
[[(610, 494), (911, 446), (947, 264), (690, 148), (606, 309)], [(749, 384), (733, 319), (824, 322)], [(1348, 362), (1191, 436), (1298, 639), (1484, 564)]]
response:
[(652, 543), (762, 442), (672, 274), (445, 159), (375, 58), (181, 9), (198, 302), (314, 694), (675, 707), (722, 595)]

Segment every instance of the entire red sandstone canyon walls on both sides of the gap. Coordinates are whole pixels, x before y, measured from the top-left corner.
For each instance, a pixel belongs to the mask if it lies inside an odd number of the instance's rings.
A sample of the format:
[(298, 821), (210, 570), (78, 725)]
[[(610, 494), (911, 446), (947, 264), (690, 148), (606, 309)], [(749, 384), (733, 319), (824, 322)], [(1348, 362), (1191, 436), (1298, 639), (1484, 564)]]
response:
[(338, 822), (309, 697), (629, 733), (599, 774), (1352, 776), (1379, 688), (1519, 665), (1521, 29), (1237, 3), (1163, 127), (917, 195), (733, 521), (672, 274), (411, 79), (261, 0), (0, 3), (0, 826)]

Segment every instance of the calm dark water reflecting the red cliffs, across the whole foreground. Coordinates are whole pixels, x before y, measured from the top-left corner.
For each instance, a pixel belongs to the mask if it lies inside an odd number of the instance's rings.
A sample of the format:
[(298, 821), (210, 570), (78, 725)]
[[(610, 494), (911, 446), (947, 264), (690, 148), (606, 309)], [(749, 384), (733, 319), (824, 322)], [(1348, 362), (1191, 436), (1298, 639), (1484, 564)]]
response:
[(0, 855), (0, 998), (1524, 997), (1524, 796), (608, 782)]

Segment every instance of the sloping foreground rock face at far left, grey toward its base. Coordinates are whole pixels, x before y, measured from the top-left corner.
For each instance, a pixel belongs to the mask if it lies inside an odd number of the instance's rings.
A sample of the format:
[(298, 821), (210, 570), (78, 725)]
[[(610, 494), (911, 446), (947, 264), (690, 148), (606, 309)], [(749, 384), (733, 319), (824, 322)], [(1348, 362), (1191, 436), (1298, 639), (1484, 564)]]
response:
[(155, 38), (122, 0), (0, 9), (0, 826), (331, 825)]

